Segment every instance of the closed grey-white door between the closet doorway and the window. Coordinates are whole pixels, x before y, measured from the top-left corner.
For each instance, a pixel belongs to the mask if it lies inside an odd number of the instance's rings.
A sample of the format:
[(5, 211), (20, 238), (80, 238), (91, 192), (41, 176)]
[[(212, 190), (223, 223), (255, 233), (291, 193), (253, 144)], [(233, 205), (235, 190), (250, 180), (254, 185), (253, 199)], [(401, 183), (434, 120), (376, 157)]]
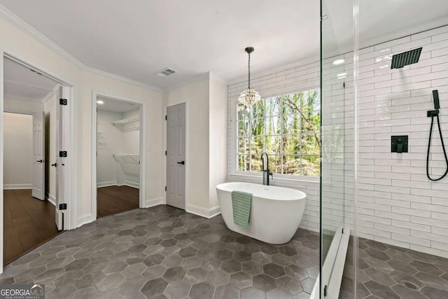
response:
[(185, 103), (167, 107), (167, 204), (185, 209)]

